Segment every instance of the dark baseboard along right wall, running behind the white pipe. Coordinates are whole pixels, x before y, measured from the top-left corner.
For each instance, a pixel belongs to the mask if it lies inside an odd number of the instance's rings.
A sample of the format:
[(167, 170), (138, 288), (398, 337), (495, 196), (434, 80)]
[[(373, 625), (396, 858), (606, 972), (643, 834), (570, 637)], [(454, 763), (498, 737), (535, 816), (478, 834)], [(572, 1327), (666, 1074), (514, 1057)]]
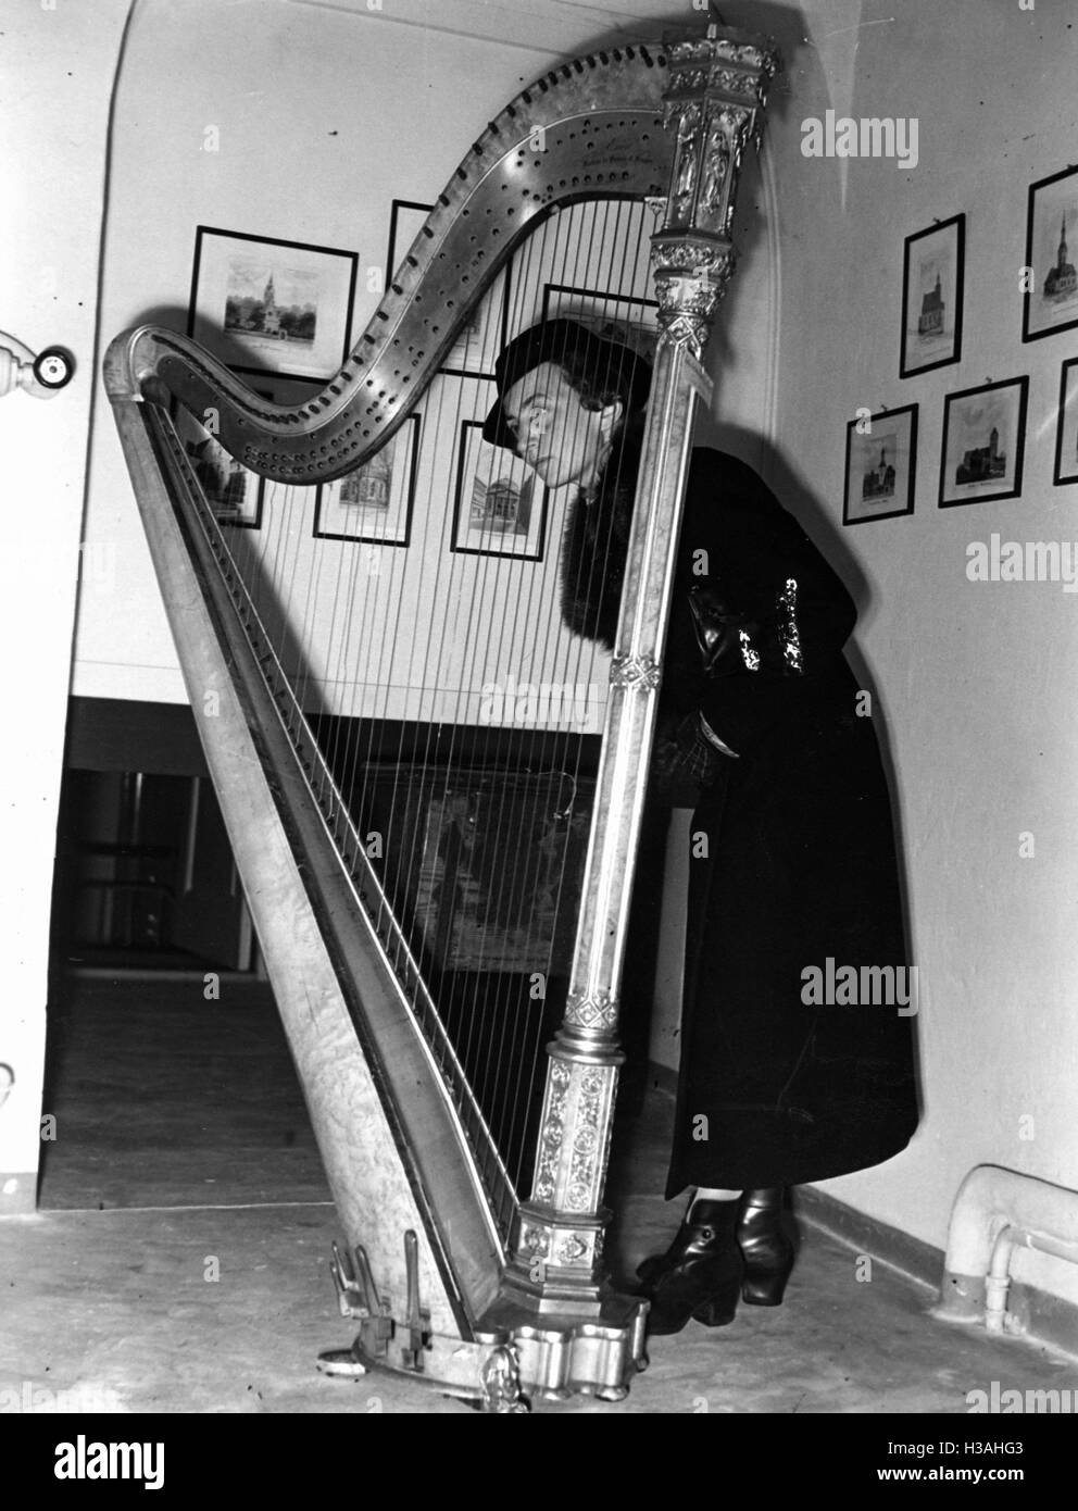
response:
[[(935, 1244), (926, 1244), (901, 1228), (870, 1218), (865, 1212), (858, 1212), (845, 1201), (838, 1201), (826, 1191), (815, 1186), (797, 1186), (793, 1197), (794, 1213), (802, 1222), (838, 1239), (856, 1250), (858, 1254), (868, 1254), (900, 1271), (909, 1280), (916, 1281), (939, 1296), (944, 1278), (944, 1250)], [(983, 1287), (981, 1287), (983, 1290)], [(983, 1293), (980, 1301), (983, 1302)], [(983, 1327), (983, 1304), (972, 1306), (965, 1325)], [(1012, 1280), (1007, 1296), (1007, 1333), (1012, 1337), (1024, 1337), (1030, 1342), (1045, 1343), (1064, 1354), (1078, 1357), (1078, 1306), (1054, 1296), (1049, 1290), (1040, 1290), (1022, 1281)], [(944, 1321), (957, 1321), (953, 1316)]]

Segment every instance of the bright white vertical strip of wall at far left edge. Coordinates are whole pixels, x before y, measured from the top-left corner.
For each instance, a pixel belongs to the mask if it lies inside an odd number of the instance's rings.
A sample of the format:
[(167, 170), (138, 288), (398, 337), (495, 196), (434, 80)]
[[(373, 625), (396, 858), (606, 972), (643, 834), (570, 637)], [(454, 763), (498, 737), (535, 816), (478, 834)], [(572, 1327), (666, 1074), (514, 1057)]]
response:
[[(38, 1170), (48, 913), (79, 576), (109, 89), (127, 0), (8, 6), (0, 328), (77, 358), (71, 385), (0, 402), (0, 1213), (29, 1212)], [(6, 1082), (6, 1076), (3, 1080)], [(0, 1088), (2, 1091), (2, 1088)], [(63, 1138), (63, 1129), (57, 1129)]]

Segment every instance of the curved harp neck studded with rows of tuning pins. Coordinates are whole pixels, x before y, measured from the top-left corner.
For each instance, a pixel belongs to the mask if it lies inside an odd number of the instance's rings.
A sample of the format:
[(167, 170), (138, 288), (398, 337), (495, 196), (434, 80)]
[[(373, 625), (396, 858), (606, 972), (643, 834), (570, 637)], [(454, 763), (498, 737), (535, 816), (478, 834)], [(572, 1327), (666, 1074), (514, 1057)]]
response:
[(279, 482), (328, 482), (399, 429), (482, 295), (536, 219), (581, 198), (664, 198), (663, 47), (625, 45), (551, 70), (471, 148), (396, 272), (350, 357), (317, 397), (266, 403), (193, 341), (156, 326), (106, 357), (113, 399), (216, 411), (217, 440)]

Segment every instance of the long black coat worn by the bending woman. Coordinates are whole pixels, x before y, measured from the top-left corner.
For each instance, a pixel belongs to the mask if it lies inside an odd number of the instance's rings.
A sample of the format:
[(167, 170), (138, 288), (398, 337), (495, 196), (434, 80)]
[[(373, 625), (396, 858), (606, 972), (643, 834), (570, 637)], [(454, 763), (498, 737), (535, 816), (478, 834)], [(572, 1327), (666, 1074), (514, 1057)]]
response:
[[(621, 542), (624, 499), (610, 508)], [(589, 524), (602, 527), (598, 515)], [(566, 586), (581, 580), (587, 547), (586, 526), (574, 521), (574, 530)], [(608, 623), (584, 623), (571, 592), (563, 607), (575, 627), (610, 639)], [(855, 620), (845, 588), (761, 479), (732, 456), (696, 452), (660, 725), (691, 727), (702, 713), (737, 757), (717, 757), (691, 823), (667, 1197), (864, 1170), (897, 1154), (916, 1127), (913, 1020), (903, 1003), (805, 1002), (806, 969), (826, 981), (829, 958), (832, 979), (839, 967), (858, 979), (861, 967), (892, 967), (900, 996), (909, 985), (888, 787), (842, 656)], [(661, 864), (664, 833), (654, 795), (637, 876)], [(643, 959), (655, 941), (654, 876), (636, 895), (624, 973), (630, 1040), (633, 984), (654, 975)]]

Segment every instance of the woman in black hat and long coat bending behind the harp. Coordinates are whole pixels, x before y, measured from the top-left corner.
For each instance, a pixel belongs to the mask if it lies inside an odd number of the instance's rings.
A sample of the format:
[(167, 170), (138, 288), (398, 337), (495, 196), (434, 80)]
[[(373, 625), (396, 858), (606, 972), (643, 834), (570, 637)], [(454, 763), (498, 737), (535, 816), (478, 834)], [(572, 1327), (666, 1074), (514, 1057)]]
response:
[[(562, 615), (613, 647), (651, 372), (572, 320), (516, 337), (483, 435), (574, 484)], [(640, 1266), (652, 1333), (778, 1306), (784, 1189), (897, 1154), (916, 1127), (898, 1002), (820, 1002), (841, 967), (906, 963), (886, 783), (842, 645), (856, 612), (743, 462), (698, 450), (663, 659), (654, 804), (695, 783), (681, 1070), (667, 1198), (695, 1188)], [(652, 899), (634, 907), (640, 941)], [(654, 937), (654, 929), (652, 929)], [(830, 961), (830, 972), (827, 969)], [(640, 973), (627, 963), (625, 979)], [(646, 972), (645, 972), (646, 976)], [(849, 978), (847, 978), (849, 979)], [(880, 978), (886, 979), (886, 978)], [(856, 996), (856, 993), (855, 993)]]

